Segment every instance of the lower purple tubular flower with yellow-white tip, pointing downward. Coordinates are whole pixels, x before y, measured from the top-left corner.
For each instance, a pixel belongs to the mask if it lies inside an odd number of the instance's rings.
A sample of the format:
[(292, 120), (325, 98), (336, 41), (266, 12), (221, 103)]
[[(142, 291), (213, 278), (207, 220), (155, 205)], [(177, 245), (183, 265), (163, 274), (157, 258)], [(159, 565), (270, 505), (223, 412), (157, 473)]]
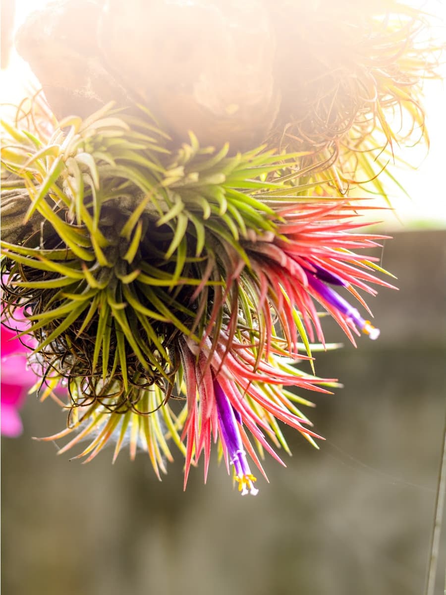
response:
[(244, 496), (249, 490), (249, 493), (255, 496), (259, 490), (254, 487), (256, 478), (253, 476), (246, 461), (246, 453), (244, 452), (240, 430), (238, 429), (240, 421), (237, 421), (237, 417), (240, 417), (240, 415), (235, 415), (230, 400), (216, 378), (213, 379), (213, 392), (217, 405), (221, 438), (228, 449), (228, 454), (231, 458), (230, 461), (235, 468), (235, 480), (238, 481), (238, 491)]

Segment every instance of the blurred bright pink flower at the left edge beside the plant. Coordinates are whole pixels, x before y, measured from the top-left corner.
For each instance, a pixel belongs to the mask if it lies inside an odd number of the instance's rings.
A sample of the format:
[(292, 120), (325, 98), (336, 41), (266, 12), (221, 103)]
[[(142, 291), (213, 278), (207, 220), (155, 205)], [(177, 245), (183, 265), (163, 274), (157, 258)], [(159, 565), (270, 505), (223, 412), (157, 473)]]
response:
[[(16, 327), (12, 330), (8, 327)], [(18, 339), (24, 330), (21, 322), (8, 320), (8, 327), (0, 324), (1, 336), (1, 393), (0, 433), (11, 438), (20, 436), (23, 425), (18, 409), (23, 405), (28, 390), (36, 382), (36, 374), (27, 365), (26, 345), (30, 340)], [(26, 337), (26, 339), (28, 339)], [(24, 345), (25, 343), (25, 345)]]

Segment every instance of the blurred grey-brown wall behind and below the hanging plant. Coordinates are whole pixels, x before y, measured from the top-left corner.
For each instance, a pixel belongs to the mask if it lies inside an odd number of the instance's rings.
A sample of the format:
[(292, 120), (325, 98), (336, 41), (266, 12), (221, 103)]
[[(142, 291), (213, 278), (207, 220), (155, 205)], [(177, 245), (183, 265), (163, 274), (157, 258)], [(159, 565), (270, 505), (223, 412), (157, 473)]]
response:
[(328, 440), (317, 452), (285, 428), (293, 458), (266, 459), (271, 483), (259, 478), (255, 498), (212, 464), (208, 485), (193, 469), (183, 493), (179, 455), (162, 483), (143, 453), (114, 466), (110, 449), (88, 465), (56, 457), (30, 437), (65, 414), (30, 399), (24, 436), (2, 439), (4, 593), (422, 595), (445, 412), (445, 240), (385, 244), (400, 291), (369, 302), (381, 337), (319, 355), (316, 372), (345, 384), (310, 395)]

